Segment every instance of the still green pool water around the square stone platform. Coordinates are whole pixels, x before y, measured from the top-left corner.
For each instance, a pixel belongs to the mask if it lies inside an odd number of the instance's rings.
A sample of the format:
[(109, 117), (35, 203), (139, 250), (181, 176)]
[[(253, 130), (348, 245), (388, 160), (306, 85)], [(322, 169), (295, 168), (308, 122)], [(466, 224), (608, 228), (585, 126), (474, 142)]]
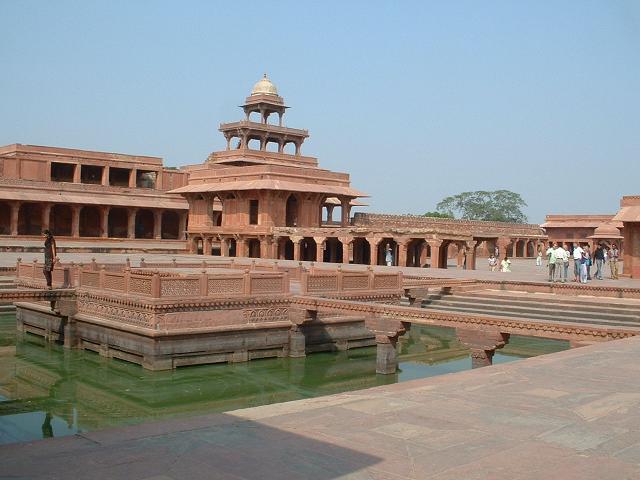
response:
[[(494, 363), (567, 349), (567, 342), (511, 337)], [(154, 419), (358, 390), (471, 368), (448, 328), (414, 327), (402, 339), (399, 371), (376, 375), (375, 347), (305, 358), (149, 372), (41, 338), (16, 338), (0, 316), (0, 444), (71, 435)]]

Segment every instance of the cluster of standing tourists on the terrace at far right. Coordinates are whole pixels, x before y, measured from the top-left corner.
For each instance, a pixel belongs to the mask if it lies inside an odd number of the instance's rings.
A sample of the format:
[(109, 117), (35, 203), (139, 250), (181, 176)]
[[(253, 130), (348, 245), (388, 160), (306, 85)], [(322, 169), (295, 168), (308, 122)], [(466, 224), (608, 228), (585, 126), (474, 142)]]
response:
[[(550, 242), (546, 255), (550, 282), (567, 282), (571, 263), (573, 263), (574, 282), (587, 283), (592, 279), (602, 280), (607, 261), (611, 270), (611, 278), (618, 278), (620, 251), (615, 243), (612, 243), (611, 246), (600, 243), (592, 252), (589, 245), (585, 245), (583, 248), (577, 243), (573, 245), (567, 243), (563, 247), (561, 243)], [(542, 265), (542, 251), (538, 252), (536, 265)], [(596, 271), (592, 277), (591, 267), (593, 265), (595, 265)]]

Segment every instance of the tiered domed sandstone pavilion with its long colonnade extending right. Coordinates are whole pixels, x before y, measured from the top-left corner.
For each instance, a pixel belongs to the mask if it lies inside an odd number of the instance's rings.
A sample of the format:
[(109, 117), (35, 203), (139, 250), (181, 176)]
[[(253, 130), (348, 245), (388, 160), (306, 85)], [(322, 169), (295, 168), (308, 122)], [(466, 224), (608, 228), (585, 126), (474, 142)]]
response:
[[(343, 263), (446, 267), (449, 245), (475, 267), (476, 247), (533, 256), (545, 238), (538, 225), (464, 222), (411, 216), (356, 216), (366, 194), (349, 175), (302, 155), (307, 130), (283, 126), (287, 107), (266, 75), (241, 107), (245, 119), (220, 125), (226, 150), (191, 166), (189, 185), (173, 190), (189, 202), (192, 252)], [(277, 115), (277, 123), (270, 119)], [(292, 146), (290, 150), (287, 150)], [(333, 221), (334, 209), (341, 210)], [(219, 247), (218, 247), (219, 245)]]

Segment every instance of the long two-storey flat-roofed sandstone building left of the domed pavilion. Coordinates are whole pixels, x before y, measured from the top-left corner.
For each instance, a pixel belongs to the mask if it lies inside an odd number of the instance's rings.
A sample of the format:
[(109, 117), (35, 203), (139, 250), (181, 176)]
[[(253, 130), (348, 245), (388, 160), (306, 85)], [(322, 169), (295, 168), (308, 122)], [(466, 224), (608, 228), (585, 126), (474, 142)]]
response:
[(188, 205), (166, 191), (185, 172), (157, 157), (13, 144), (0, 147), (0, 235), (183, 239)]

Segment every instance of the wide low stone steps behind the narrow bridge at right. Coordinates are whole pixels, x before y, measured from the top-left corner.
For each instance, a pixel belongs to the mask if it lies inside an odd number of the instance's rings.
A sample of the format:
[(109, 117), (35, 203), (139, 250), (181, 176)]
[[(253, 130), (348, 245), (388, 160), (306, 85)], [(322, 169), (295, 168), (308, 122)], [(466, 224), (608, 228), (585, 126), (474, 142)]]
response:
[[(416, 305), (417, 306), (417, 305)], [(522, 318), (640, 328), (640, 301), (539, 295), (525, 292), (441, 293), (429, 295), (422, 308)]]

